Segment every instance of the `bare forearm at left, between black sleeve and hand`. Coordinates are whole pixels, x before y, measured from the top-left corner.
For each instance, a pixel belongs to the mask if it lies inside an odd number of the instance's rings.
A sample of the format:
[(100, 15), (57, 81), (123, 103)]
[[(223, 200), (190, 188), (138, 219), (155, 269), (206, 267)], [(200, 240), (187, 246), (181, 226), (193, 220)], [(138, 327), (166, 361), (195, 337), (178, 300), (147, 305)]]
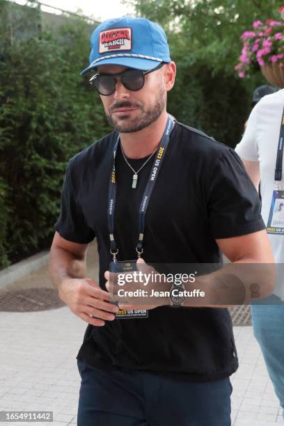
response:
[(49, 276), (57, 289), (65, 279), (86, 278), (86, 256), (77, 258), (64, 248), (52, 247), (49, 258)]

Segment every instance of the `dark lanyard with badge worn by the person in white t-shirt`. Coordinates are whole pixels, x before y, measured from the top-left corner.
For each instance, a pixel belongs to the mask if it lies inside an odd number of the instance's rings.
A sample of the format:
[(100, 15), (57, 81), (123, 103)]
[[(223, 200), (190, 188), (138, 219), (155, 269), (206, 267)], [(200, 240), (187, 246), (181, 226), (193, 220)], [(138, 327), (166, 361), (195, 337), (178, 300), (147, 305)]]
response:
[[(284, 108), (281, 118), (281, 127), (278, 140), (276, 166), (274, 173), (274, 191), (267, 222), (267, 233), (284, 235), (284, 191), (281, 188), (283, 175), (283, 143), (284, 143)], [(281, 190), (282, 189), (282, 190)]]

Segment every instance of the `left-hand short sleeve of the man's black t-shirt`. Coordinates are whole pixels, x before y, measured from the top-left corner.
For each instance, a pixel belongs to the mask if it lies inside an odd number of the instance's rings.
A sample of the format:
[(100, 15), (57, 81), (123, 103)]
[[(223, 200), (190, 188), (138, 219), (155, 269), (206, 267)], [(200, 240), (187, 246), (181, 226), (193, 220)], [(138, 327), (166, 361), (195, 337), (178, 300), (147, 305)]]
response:
[(61, 237), (79, 244), (88, 244), (95, 238), (95, 232), (86, 223), (84, 213), (77, 202), (71, 180), (70, 166), (68, 166), (63, 188), (61, 191), (61, 212), (54, 229)]

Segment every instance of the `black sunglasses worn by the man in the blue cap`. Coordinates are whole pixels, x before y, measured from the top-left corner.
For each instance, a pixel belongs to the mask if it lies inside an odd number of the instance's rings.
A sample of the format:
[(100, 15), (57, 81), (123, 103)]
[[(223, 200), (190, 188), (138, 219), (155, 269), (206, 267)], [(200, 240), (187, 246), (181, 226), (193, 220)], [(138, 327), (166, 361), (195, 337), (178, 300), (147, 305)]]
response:
[(145, 75), (150, 72), (157, 71), (165, 65), (164, 62), (159, 63), (156, 68), (149, 71), (134, 70), (128, 68), (117, 74), (95, 74), (90, 78), (89, 83), (100, 95), (109, 96), (116, 91), (116, 79), (119, 78), (123, 86), (128, 90), (141, 90), (145, 84)]

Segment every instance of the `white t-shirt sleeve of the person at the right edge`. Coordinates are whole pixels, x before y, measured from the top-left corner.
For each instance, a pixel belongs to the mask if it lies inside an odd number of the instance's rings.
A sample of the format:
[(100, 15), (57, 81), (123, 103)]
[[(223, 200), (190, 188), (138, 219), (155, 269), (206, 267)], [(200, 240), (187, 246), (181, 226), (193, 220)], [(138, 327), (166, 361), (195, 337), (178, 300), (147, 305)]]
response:
[(242, 159), (248, 161), (258, 161), (258, 104), (251, 111), (251, 115), (248, 117), (248, 124), (246, 130), (235, 151)]

